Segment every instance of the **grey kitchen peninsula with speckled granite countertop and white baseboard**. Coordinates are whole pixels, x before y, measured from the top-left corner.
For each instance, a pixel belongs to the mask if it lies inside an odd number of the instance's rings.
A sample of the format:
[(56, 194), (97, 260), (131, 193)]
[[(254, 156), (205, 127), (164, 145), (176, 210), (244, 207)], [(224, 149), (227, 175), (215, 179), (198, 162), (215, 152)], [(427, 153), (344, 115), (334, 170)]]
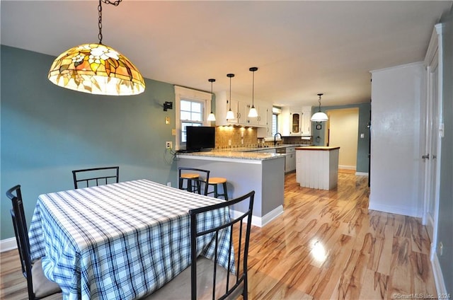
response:
[[(285, 154), (207, 151), (177, 154), (178, 167), (201, 168), (227, 180), (229, 199), (255, 190), (252, 224), (264, 226), (283, 212)], [(235, 207), (245, 212), (245, 207)]]

